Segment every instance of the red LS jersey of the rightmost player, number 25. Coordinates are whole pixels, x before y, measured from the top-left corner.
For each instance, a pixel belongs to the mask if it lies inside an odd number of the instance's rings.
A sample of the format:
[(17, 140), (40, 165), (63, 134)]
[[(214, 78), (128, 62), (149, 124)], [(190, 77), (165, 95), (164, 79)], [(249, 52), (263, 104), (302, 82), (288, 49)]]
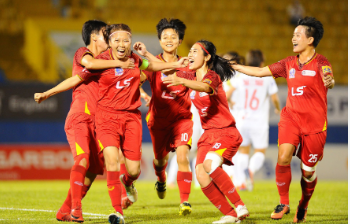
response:
[(298, 56), (287, 57), (268, 66), (275, 78), (284, 77), (288, 84), (287, 104), (284, 110), (299, 125), (303, 134), (327, 129), (327, 91), (323, 77), (333, 76), (327, 58), (315, 54), (300, 65)]

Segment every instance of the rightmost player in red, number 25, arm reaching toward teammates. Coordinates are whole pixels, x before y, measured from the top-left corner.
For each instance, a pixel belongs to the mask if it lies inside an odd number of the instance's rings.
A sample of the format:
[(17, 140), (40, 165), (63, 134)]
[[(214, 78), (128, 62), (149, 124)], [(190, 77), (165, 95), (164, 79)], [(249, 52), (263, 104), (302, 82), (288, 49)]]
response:
[(327, 136), (327, 91), (334, 87), (330, 63), (315, 50), (322, 37), (322, 23), (313, 17), (305, 17), (299, 20), (292, 38), (293, 52), (297, 56), (263, 68), (234, 65), (234, 69), (247, 75), (284, 77), (288, 83), (287, 105), (282, 109), (278, 124), (276, 185), (280, 204), (272, 212), (272, 219), (281, 219), (290, 212), (290, 162), (293, 155), (300, 158), (302, 172), (302, 196), (293, 222), (305, 220), (317, 183), (316, 165), (322, 160)]

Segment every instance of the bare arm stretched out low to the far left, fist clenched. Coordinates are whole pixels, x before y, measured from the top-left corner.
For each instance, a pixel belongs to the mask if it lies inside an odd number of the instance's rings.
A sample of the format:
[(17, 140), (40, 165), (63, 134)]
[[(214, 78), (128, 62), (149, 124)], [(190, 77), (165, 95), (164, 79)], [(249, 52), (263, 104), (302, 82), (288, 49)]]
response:
[(72, 76), (72, 77), (62, 81), (60, 84), (58, 84), (57, 86), (53, 87), (52, 89), (49, 89), (46, 92), (35, 93), (34, 94), (34, 100), (37, 103), (41, 103), (42, 101), (46, 100), (50, 96), (56, 95), (57, 93), (67, 91), (67, 90), (75, 87), (76, 85), (78, 85), (82, 81), (83, 80), (78, 75)]

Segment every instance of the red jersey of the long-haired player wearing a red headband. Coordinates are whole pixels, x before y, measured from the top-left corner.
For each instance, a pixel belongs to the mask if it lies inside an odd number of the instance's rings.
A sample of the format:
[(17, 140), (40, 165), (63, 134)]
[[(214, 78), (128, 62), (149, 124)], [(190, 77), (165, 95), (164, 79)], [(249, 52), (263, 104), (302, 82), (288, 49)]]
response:
[[(195, 72), (178, 72), (179, 77), (196, 80)], [(208, 84), (212, 93), (192, 90), (190, 98), (198, 109), (202, 128), (204, 130), (215, 128), (235, 127), (235, 119), (230, 113), (226, 100), (226, 93), (222, 88), (222, 81), (216, 72), (209, 70), (202, 82)]]

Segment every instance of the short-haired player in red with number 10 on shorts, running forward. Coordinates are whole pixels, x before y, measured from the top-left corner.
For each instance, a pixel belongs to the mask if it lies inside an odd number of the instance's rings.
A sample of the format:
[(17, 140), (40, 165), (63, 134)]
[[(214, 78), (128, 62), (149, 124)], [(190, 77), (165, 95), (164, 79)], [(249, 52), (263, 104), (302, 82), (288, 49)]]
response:
[[(163, 53), (156, 58), (164, 62), (177, 62), (177, 48), (185, 35), (185, 24), (178, 19), (161, 19), (157, 24), (157, 32)], [(135, 44), (139, 52), (148, 56), (144, 46)], [(152, 98), (146, 116), (150, 130), (154, 160), (153, 167), (157, 176), (156, 190), (160, 199), (166, 195), (166, 173), (169, 152), (176, 151), (177, 184), (180, 191), (179, 214), (191, 213), (191, 204), (188, 202), (191, 192), (192, 172), (189, 162), (189, 150), (192, 143), (192, 113), (189, 89), (184, 86), (167, 87), (162, 79), (175, 71), (144, 72), (151, 84)]]

